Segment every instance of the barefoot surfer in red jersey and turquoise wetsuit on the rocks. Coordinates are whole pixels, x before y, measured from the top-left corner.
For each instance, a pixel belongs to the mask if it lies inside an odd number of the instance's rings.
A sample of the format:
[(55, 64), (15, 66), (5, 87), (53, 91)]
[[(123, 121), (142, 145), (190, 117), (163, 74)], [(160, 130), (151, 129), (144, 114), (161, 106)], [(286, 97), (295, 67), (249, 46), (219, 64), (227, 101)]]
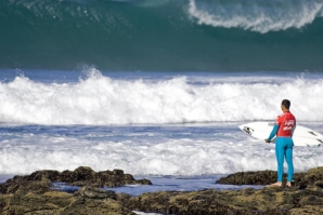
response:
[(290, 102), (288, 99), (283, 99), (281, 108), (283, 113), (280, 115), (270, 133), (266, 143), (270, 143), (270, 140), (276, 135), (276, 144), (275, 144), (275, 154), (277, 159), (277, 182), (270, 186), (282, 186), (283, 174), (284, 174), (284, 159), (286, 159), (288, 165), (288, 178), (287, 178), (287, 187), (290, 187), (294, 165), (293, 165), (293, 133), (296, 127), (296, 119), (294, 115), (289, 111)]

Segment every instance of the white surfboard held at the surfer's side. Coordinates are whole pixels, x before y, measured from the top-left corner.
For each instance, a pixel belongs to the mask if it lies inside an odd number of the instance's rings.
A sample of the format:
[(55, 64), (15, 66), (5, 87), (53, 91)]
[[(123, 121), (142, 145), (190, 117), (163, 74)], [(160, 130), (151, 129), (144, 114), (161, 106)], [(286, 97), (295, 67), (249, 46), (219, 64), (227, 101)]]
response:
[[(238, 127), (248, 135), (263, 140), (269, 137), (274, 123), (273, 122), (251, 122), (238, 125)], [(274, 143), (275, 138), (271, 140)], [(296, 125), (293, 135), (294, 146), (319, 146), (323, 144), (323, 135), (305, 126)]]

